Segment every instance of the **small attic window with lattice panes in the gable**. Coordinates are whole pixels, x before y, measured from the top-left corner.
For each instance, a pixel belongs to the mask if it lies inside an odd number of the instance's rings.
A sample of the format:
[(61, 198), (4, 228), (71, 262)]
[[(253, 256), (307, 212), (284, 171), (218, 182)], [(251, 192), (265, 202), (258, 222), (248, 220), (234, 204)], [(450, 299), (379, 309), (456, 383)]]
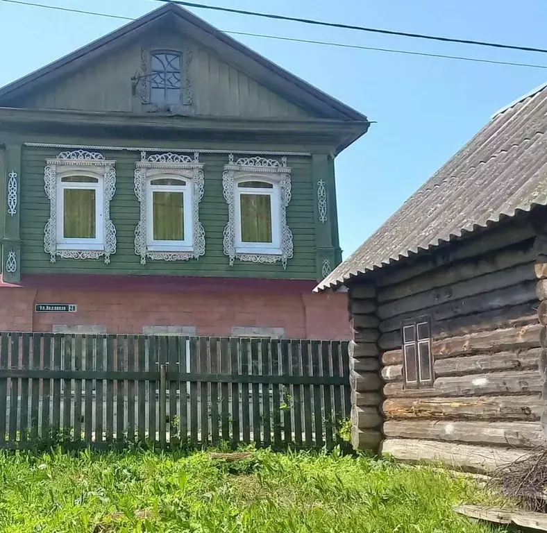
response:
[(167, 51), (152, 53), (150, 103), (180, 104), (180, 53)]

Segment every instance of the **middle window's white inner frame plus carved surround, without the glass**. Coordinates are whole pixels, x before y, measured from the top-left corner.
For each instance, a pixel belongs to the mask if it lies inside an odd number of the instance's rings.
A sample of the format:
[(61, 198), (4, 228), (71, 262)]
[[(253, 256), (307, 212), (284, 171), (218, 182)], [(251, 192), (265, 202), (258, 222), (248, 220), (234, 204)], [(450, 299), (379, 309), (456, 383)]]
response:
[[(151, 185), (152, 180), (184, 180), (186, 185)], [(183, 155), (160, 153), (146, 155), (135, 165), (135, 195), (140, 202), (140, 220), (135, 228), (135, 253), (141, 264), (146, 259), (186, 261), (205, 254), (205, 230), (199, 221), (199, 203), (203, 198), (205, 180), (199, 153)], [(153, 239), (152, 193), (154, 190), (180, 191), (184, 194), (185, 239), (155, 241)]]

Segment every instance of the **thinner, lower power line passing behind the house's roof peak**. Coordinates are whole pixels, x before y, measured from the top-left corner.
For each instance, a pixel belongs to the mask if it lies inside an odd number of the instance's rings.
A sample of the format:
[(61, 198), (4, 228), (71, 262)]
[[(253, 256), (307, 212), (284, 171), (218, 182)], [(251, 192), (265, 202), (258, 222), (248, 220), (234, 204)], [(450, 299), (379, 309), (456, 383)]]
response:
[[(96, 11), (85, 11), (85, 10), (79, 10), (79, 9), (71, 9), (71, 8), (61, 8), (58, 6), (48, 6), (47, 4), (43, 3), (35, 3), (35, 2), (26, 2), (22, 0), (0, 0), (2, 2), (6, 3), (17, 3), (22, 6), (33, 6), (37, 8), (46, 8), (46, 9), (52, 9), (52, 10), (58, 10), (58, 11), (67, 11), (67, 12), (73, 12), (73, 13), (80, 13), (82, 15), (95, 15), (97, 17), (107, 17), (112, 19), (120, 19), (120, 20), (128, 20), (128, 21), (134, 21), (136, 19), (132, 17), (123, 17), (121, 15), (110, 15), (108, 13), (101, 13)], [(405, 54), (408, 56), (423, 56), (428, 58), (440, 58), (440, 59), (453, 59), (453, 60), (460, 60), (460, 61), (470, 61), (470, 62), (478, 62), (478, 63), (489, 63), (492, 65), (508, 65), (510, 67), (528, 67), (532, 69), (547, 69), (547, 65), (535, 65), (534, 63), (518, 63), (518, 62), (512, 62), (512, 61), (498, 61), (493, 59), (480, 59), (480, 58), (468, 58), (465, 56), (449, 56), (446, 54), (441, 53), (427, 53), (427, 52), (415, 52), (410, 50), (399, 50), (399, 49), (391, 49), (391, 48), (378, 48), (376, 46), (361, 46), (359, 44), (345, 44), (342, 42), (329, 42), (329, 41), (320, 41), (320, 40), (310, 40), (310, 39), (298, 39), (296, 37), (282, 37), (280, 35), (267, 35), (264, 33), (249, 33), (246, 31), (230, 31), (230, 30), (223, 30), (224, 33), (229, 33), (230, 35), (247, 35), (249, 37), (261, 37), (264, 39), (274, 39), (274, 40), (280, 40), (280, 41), (289, 41), (289, 42), (303, 42), (307, 44), (321, 44), (324, 46), (337, 46), (339, 48), (349, 48), (349, 49), (357, 49), (357, 50), (369, 50), (369, 51), (376, 51), (376, 52), (387, 52), (387, 53), (400, 53)]]

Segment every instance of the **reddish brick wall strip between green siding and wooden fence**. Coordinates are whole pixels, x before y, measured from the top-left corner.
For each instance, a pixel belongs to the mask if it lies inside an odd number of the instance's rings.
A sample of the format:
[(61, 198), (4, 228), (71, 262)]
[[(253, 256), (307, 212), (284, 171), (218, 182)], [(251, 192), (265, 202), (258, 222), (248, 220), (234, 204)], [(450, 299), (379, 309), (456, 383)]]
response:
[[(76, 313), (35, 313), (35, 303), (76, 303)], [(0, 331), (51, 332), (53, 324), (106, 325), (142, 333), (146, 325), (193, 325), (229, 336), (234, 326), (285, 328), (286, 337), (349, 339), (346, 294), (96, 291), (0, 288)]]

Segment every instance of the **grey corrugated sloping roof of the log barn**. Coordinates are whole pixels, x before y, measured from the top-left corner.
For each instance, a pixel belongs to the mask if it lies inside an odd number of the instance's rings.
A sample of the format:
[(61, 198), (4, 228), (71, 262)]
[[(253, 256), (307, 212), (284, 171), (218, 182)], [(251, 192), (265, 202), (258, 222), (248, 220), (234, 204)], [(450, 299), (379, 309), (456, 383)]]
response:
[(547, 86), (494, 115), (316, 291), (547, 205)]

